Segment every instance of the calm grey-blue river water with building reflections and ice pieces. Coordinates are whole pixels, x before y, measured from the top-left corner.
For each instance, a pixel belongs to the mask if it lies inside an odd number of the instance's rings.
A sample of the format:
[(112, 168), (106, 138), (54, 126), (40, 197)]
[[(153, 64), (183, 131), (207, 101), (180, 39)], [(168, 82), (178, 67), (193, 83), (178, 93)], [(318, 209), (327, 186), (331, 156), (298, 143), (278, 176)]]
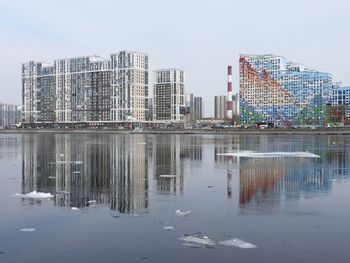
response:
[[(0, 262), (348, 262), (349, 145), (324, 135), (0, 134)], [(246, 150), (320, 158), (217, 155)], [(33, 191), (54, 197), (14, 196)], [(182, 244), (194, 234), (216, 245)], [(232, 239), (257, 247), (220, 245)]]

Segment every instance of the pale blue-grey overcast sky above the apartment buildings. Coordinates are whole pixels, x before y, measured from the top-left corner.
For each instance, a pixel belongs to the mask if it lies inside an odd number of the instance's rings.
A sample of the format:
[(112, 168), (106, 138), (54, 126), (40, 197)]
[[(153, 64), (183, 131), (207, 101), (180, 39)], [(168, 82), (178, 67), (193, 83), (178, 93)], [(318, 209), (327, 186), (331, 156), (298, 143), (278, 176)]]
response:
[[(120, 50), (186, 72), (186, 92), (206, 116), (225, 95), (227, 65), (238, 92), (240, 54), (276, 54), (350, 86), (347, 0), (0, 0), (0, 102), (21, 104), (21, 64)], [(150, 83), (150, 87), (152, 82)]]

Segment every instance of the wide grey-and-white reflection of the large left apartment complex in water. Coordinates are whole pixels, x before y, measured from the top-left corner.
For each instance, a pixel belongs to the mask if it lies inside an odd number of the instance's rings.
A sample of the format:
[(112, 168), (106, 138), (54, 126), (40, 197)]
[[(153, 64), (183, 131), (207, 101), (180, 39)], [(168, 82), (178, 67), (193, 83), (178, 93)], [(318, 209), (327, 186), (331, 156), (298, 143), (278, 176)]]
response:
[(147, 160), (140, 136), (24, 135), (23, 192), (56, 193), (55, 205), (89, 200), (121, 213), (148, 207)]

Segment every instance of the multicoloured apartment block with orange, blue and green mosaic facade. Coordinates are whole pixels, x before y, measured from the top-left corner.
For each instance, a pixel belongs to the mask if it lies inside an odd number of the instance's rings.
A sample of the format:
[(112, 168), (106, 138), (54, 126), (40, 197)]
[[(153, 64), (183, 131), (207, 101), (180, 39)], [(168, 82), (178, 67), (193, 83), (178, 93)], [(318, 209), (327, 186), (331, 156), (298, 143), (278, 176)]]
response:
[(332, 89), (330, 73), (275, 55), (241, 55), (239, 64), (242, 123), (324, 122)]

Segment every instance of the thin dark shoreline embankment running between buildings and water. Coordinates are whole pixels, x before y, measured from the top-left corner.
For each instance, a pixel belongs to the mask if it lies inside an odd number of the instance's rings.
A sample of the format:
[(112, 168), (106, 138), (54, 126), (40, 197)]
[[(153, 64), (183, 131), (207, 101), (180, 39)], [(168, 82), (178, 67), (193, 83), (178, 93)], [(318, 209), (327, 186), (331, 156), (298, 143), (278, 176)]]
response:
[(349, 128), (326, 128), (326, 129), (158, 129), (158, 130), (143, 130), (141, 132), (133, 132), (131, 130), (119, 129), (4, 129), (0, 130), (0, 134), (42, 134), (42, 133), (56, 133), (56, 134), (187, 134), (187, 135), (350, 135)]

